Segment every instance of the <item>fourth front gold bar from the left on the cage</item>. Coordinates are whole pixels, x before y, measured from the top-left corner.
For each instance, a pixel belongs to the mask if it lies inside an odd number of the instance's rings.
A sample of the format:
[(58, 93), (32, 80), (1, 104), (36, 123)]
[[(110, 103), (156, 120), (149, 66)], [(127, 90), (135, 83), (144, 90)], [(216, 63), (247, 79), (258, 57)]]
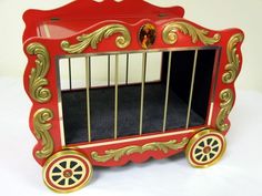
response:
[(169, 64), (168, 64), (168, 75), (167, 75), (167, 89), (165, 89), (165, 100), (164, 100), (164, 115), (163, 115), (163, 132), (165, 132), (167, 126), (167, 115), (169, 105), (169, 86), (170, 86), (170, 72), (172, 64), (172, 51), (169, 52)]

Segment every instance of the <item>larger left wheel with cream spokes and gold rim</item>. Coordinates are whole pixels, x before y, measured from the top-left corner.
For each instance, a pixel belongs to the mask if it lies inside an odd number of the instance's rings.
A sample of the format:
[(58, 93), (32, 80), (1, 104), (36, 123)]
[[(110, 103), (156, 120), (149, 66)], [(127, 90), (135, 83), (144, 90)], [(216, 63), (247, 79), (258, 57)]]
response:
[(43, 166), (43, 180), (54, 192), (69, 193), (82, 188), (92, 176), (92, 165), (79, 152), (62, 151)]

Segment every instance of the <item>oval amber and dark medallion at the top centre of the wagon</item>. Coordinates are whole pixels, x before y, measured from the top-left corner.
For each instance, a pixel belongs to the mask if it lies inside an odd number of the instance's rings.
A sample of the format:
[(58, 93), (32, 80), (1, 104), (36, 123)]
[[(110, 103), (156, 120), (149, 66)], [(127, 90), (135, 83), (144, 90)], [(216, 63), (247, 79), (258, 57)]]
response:
[(142, 49), (151, 48), (155, 42), (157, 31), (155, 27), (151, 23), (144, 24), (139, 31), (139, 41)]

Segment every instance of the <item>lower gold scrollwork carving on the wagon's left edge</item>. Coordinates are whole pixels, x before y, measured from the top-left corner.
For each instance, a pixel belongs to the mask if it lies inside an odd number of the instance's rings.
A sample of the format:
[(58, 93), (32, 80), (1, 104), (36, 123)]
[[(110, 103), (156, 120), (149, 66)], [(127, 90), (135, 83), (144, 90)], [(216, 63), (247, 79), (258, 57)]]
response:
[(53, 140), (49, 133), (52, 127), (50, 121), (53, 113), (49, 109), (40, 109), (33, 115), (33, 128), (36, 137), (42, 141), (42, 149), (36, 152), (38, 158), (48, 158), (53, 152)]

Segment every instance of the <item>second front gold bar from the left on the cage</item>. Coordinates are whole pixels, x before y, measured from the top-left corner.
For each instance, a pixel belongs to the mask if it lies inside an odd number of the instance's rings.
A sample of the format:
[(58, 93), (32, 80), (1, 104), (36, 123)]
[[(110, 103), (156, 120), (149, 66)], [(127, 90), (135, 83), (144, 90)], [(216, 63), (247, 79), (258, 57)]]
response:
[(119, 54), (115, 54), (114, 70), (114, 138), (118, 138)]

